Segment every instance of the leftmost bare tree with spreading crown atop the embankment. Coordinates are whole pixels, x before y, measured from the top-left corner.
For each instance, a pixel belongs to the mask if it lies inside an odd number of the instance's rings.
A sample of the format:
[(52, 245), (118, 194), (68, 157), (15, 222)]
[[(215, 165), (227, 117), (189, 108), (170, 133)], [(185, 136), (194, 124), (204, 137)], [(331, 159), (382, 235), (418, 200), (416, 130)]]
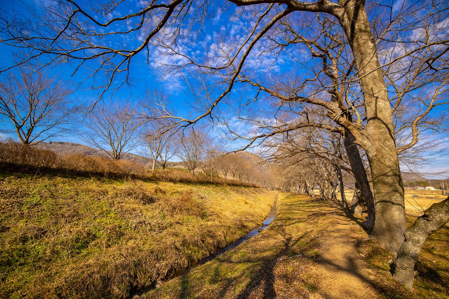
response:
[(13, 125), (1, 132), (15, 132), (24, 145), (35, 145), (72, 128), (80, 108), (70, 83), (25, 65), (2, 74), (0, 80), (0, 119)]

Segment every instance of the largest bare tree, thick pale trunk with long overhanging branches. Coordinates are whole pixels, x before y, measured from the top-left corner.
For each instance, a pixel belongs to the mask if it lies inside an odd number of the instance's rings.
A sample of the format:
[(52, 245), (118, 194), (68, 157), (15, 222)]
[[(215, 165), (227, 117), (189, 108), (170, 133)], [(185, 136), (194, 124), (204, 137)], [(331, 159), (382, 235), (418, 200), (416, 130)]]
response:
[[(217, 76), (218, 79), (212, 86), (220, 87), (221, 91), (216, 94), (208, 93), (204, 98), (206, 100), (202, 101), (202, 113), (192, 119), (167, 115), (180, 126), (191, 125), (204, 117), (217, 117), (215, 111), (218, 104), (229, 97), (238, 82), (250, 84), (258, 94), (265, 92), (282, 103), (295, 103), (299, 109), (310, 106), (323, 108), (326, 116), (343, 128), (345, 135), (351, 134), (354, 143), (365, 151), (373, 179), (376, 212), (370, 237), (396, 254), (405, 239), (404, 188), (396, 148), (388, 89), (390, 85), (384, 78), (383, 69), (404, 57), (412, 57), (423, 49), (430, 49), (424, 58), (424, 72), (421, 74), (434, 71), (441, 74), (441, 78), (447, 76), (449, 40), (446, 34), (434, 34), (433, 30), (447, 30), (447, 22), (444, 22), (447, 19), (447, 3), (430, 0), (410, 3), (403, 1), (402, 4), (395, 3), (394, 7), (393, 4), (389, 7), (385, 4), (373, 4), (377, 10), (368, 10), (364, 0), (229, 2), (246, 7), (247, 9), (237, 11), (237, 14), (251, 18), (251, 22), (247, 22), (248, 27), (242, 25), (240, 28), (241, 38), (229, 39), (223, 36), (220, 46), (214, 48), (214, 51), (205, 51), (210, 54), (204, 56), (190, 55), (192, 51), (184, 45), (189, 42), (197, 44), (198, 35), (202, 34), (203, 22), (209, 15), (206, 13), (209, 2), (206, 1), (151, 2), (136, 12), (126, 16), (120, 13), (120, 17), (114, 18), (110, 18), (111, 12), (119, 11), (121, 2), (93, 4), (92, 7), (83, 9), (72, 0), (58, 1), (47, 4), (47, 22), (44, 22), (47, 26), (40, 26), (39, 21), (36, 22), (37, 26), (27, 26), (29, 20), (22, 20), (14, 13), (2, 13), (0, 27), (4, 43), (29, 50), (26, 59), (49, 54), (52, 56), (51, 62), (69, 59), (78, 60), (83, 65), (86, 60), (97, 61), (98, 69), (90, 74), (104, 75), (106, 80), (101, 81), (103, 85), (100, 87), (106, 89), (119, 75), (126, 74), (124, 79), (128, 79), (130, 62), (141, 52), (148, 51), (147, 54), (150, 54), (151, 43), (162, 48), (163, 55), (177, 58), (176, 62), (161, 63), (165, 64), (168, 73), (197, 68), (203, 74)], [(235, 15), (235, 7), (229, 7)], [(384, 22), (384, 32), (390, 34), (376, 32), (374, 35), (375, 29), (373, 30), (370, 19), (374, 24)], [(148, 22), (149, 20), (154, 22)], [(120, 23), (123, 26), (118, 26)], [(312, 24), (312, 28), (308, 23)], [(187, 30), (184, 30), (184, 24), (188, 24)], [(97, 30), (99, 27), (102, 27), (101, 32)], [(116, 28), (127, 29), (120, 31), (115, 30)], [(321, 32), (318, 36), (317, 30)], [(419, 34), (423, 30), (430, 30), (431, 34)], [(124, 43), (112, 43), (110, 40), (123, 34), (135, 34), (136, 31), (141, 34), (137, 44), (125, 46)], [(333, 34), (333, 31), (338, 32)], [(182, 43), (178, 43), (179, 39), (182, 39)], [(339, 47), (329, 46), (330, 40), (339, 44)], [(404, 51), (392, 51), (389, 57), (378, 52), (377, 43), (380, 44), (381, 41), (390, 45), (401, 42), (407, 46)], [(300, 50), (292, 55), (290, 62), (297, 62), (295, 66), (302, 71), (310, 70), (310, 78), (293, 78), (294, 84), (287, 84), (285, 80), (289, 78), (276, 82), (276, 78), (261, 78), (260, 74), (251, 72), (248, 68), (251, 65), (248, 61), (255, 57), (267, 57), (273, 53), (278, 55), (284, 49), (299, 44), (307, 48), (316, 60), (310, 61), (310, 64), (303, 63), (302, 59), (298, 60), (298, 57), (303, 57)], [(252, 65), (257, 64), (252, 62)], [(339, 68), (339, 65), (344, 67)], [(413, 68), (414, 65), (416, 64), (412, 63), (410, 66)], [(351, 93), (358, 96), (352, 98), (349, 96)], [(440, 100), (444, 101), (444, 97)], [(312, 122), (300, 126), (326, 128), (328, 124)], [(258, 134), (246, 136), (247, 146), (300, 126), (285, 123), (282, 126), (259, 127)], [(414, 126), (410, 128), (413, 133)]]

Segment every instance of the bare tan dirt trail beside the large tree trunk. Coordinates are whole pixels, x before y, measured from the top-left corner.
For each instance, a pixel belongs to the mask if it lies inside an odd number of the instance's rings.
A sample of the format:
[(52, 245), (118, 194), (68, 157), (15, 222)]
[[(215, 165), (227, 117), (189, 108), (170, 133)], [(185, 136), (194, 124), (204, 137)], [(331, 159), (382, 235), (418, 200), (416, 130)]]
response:
[(317, 267), (318, 287), (313, 299), (367, 299), (379, 298), (379, 293), (370, 283), (370, 272), (355, 247), (351, 232), (362, 230), (348, 220), (335, 204), (321, 211), (334, 218), (322, 236), (321, 258)]

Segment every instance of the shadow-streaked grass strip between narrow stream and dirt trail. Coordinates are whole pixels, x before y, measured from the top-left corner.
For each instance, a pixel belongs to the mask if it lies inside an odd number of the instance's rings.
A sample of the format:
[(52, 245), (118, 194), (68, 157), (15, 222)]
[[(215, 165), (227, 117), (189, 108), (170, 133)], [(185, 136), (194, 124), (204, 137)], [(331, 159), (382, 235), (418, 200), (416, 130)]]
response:
[(322, 201), (282, 194), (277, 218), (261, 234), (170, 280), (145, 298), (308, 298), (317, 288), (317, 250), (332, 220)]

